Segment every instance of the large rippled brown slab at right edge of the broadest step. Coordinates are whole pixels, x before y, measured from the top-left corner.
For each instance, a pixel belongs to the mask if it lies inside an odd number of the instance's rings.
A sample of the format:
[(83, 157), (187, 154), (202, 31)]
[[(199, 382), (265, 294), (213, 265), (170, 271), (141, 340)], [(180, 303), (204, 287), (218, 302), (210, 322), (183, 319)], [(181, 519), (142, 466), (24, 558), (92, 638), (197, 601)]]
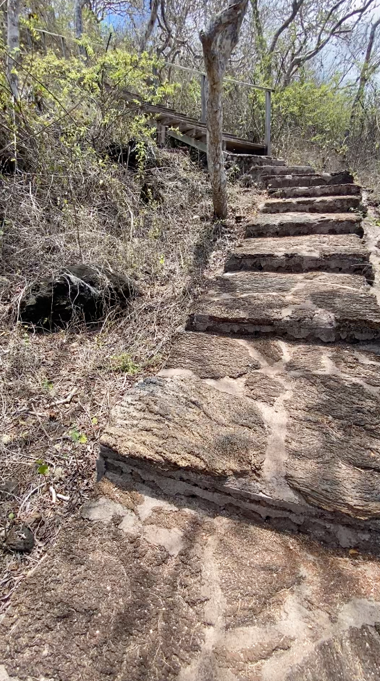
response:
[(379, 395), (331, 374), (297, 377), (293, 384), (286, 479), (314, 505), (379, 516)]

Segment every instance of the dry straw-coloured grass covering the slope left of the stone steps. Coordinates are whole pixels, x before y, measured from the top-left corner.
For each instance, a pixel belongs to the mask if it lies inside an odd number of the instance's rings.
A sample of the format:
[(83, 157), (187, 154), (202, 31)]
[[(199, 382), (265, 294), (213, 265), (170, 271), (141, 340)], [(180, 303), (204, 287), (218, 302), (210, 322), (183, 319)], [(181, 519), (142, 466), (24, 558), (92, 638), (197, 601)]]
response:
[[(146, 182), (158, 199), (149, 205), (140, 199)], [(2, 185), (0, 484), (17, 484), (0, 499), (2, 537), (15, 522), (35, 535), (30, 554), (1, 554), (6, 607), (64, 519), (92, 494), (110, 408), (162, 367), (192, 296), (240, 235), (234, 212), (252, 210), (254, 195), (230, 187), (232, 219), (213, 224), (207, 176), (175, 150), (157, 151), (156, 167), (142, 174), (91, 165), (69, 184), (46, 173)], [(81, 260), (127, 272), (142, 295), (95, 329), (78, 322), (42, 335), (17, 323), (33, 280)]]

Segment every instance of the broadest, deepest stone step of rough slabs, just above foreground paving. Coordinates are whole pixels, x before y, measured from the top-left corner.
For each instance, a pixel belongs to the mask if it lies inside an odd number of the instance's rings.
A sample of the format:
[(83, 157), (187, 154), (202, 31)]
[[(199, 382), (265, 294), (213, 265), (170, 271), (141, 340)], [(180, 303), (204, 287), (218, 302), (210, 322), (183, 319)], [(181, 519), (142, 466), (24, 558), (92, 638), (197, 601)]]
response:
[(379, 549), (379, 353), (182, 334), (112, 410), (105, 473)]

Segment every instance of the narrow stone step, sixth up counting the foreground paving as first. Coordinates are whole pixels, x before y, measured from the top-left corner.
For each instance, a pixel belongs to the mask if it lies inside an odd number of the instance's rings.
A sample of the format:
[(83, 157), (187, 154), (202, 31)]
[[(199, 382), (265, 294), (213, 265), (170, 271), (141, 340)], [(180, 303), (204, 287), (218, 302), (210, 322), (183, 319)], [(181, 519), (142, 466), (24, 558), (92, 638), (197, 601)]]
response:
[(360, 208), (361, 196), (297, 196), (292, 199), (267, 199), (259, 210), (263, 213), (345, 213)]

